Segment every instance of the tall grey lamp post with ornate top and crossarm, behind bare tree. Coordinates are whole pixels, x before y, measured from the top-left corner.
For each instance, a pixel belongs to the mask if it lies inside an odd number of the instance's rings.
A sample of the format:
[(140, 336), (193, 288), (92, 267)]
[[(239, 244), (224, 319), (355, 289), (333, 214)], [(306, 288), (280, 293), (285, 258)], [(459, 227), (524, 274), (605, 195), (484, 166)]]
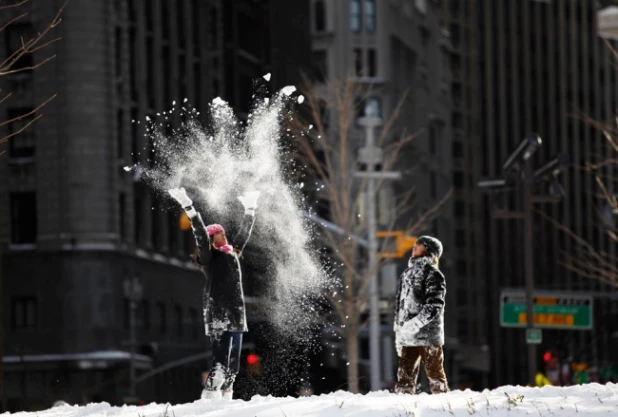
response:
[(366, 164), (366, 171), (355, 173), (357, 178), (367, 180), (365, 204), (367, 209), (367, 243), (369, 252), (369, 359), (370, 359), (370, 382), (371, 390), (381, 389), (381, 356), (380, 356), (380, 310), (378, 294), (378, 271), (377, 271), (377, 252), (378, 242), (376, 238), (376, 206), (375, 206), (375, 181), (378, 179), (398, 179), (401, 174), (398, 172), (376, 171), (376, 165), (382, 163), (382, 149), (375, 146), (374, 129), (382, 125), (382, 119), (376, 103), (368, 102), (365, 106), (365, 116), (358, 120), (361, 126), (365, 127), (365, 147), (361, 149), (359, 162)]

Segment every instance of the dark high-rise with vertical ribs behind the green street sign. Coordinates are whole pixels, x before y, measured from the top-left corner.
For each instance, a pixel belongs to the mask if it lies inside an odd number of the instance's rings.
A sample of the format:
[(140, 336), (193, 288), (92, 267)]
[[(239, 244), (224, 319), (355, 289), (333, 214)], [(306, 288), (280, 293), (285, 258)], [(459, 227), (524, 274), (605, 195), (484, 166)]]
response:
[[(525, 286), (525, 245), (534, 246), (535, 288), (594, 297), (592, 330), (544, 330), (537, 359), (553, 350), (565, 362), (585, 362), (591, 368), (615, 365), (618, 329), (610, 289), (558, 265), (559, 260), (580, 254), (571, 239), (545, 220), (551, 218), (597, 250), (616, 255), (615, 242), (599, 228), (594, 177), (580, 169), (586, 161), (611, 155), (600, 132), (580, 116), (608, 122), (617, 104), (616, 69), (610, 51), (597, 36), (597, 2), (478, 3), (482, 123), (477, 169), (482, 176), (500, 175), (503, 162), (528, 132), (543, 139), (534, 156), (536, 167), (560, 152), (569, 154), (573, 163), (560, 176), (566, 198), (558, 204), (535, 204), (533, 242), (524, 241), (520, 220), (493, 219), (492, 204), (484, 201), (481, 255), (485, 274), (477, 279), (488, 289), (491, 384), (528, 380), (527, 357), (522, 354), (524, 331), (502, 328), (499, 323), (500, 291)], [(604, 171), (615, 173), (615, 166)], [(516, 202), (511, 199), (507, 208), (517, 208)]]

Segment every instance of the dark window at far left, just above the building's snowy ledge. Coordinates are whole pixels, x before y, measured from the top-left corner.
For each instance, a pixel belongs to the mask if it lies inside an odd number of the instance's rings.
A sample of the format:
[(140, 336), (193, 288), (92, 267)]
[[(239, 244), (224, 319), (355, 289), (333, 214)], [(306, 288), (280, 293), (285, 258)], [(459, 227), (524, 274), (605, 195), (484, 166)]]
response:
[(10, 193), (11, 243), (16, 245), (36, 243), (37, 215), (34, 191)]

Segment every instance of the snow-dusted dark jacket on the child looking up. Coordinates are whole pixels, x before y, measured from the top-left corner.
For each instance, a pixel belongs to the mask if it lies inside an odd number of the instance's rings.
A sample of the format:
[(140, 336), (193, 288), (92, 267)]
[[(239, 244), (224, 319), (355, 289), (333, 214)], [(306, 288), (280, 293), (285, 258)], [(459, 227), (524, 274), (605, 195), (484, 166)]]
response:
[(395, 302), (395, 335), (401, 346), (444, 345), (446, 280), (431, 258), (410, 258)]

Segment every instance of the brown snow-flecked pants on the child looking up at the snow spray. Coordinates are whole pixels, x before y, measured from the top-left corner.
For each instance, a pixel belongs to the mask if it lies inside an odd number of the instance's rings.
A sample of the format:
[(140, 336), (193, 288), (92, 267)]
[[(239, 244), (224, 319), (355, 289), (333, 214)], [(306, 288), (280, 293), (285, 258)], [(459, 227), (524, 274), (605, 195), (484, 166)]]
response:
[(432, 394), (447, 392), (448, 383), (444, 373), (444, 354), (440, 345), (404, 346), (402, 348), (395, 392), (402, 394), (416, 393), (416, 381), (421, 369), (421, 360), (425, 365), (425, 373), (429, 379)]

